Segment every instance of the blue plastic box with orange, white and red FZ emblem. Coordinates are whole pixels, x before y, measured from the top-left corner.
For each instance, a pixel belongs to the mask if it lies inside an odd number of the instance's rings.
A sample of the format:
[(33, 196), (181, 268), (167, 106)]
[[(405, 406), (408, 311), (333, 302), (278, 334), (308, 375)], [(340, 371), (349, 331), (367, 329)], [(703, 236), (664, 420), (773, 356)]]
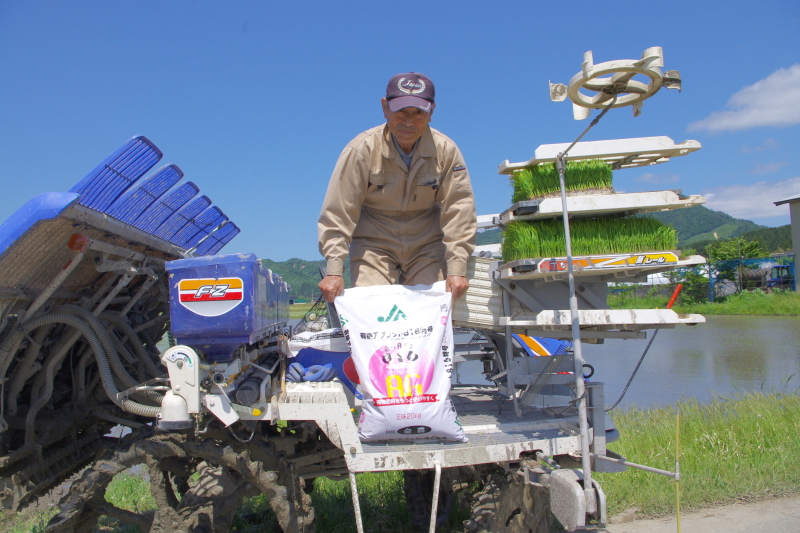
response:
[(210, 362), (227, 362), (289, 319), (289, 287), (255, 254), (170, 261), (172, 334), (198, 348)]

